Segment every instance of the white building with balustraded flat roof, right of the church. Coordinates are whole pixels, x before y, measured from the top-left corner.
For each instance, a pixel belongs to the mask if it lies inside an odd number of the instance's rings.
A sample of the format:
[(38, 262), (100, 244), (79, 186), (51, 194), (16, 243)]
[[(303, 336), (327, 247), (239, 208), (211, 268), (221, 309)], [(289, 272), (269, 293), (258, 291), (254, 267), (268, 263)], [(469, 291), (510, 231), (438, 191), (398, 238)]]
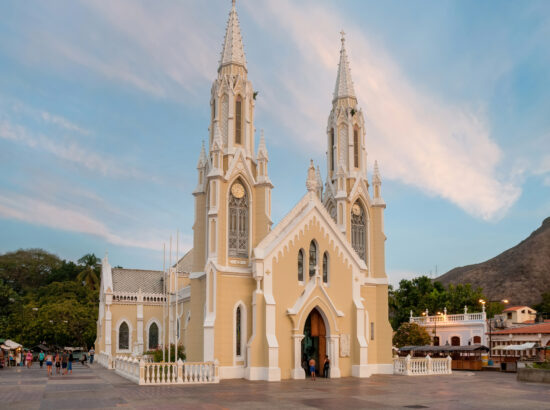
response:
[(464, 307), (464, 313), (456, 315), (447, 315), (447, 308), (443, 314), (429, 316), (426, 310), (424, 316), (411, 317), (409, 322), (417, 323), (424, 327), (434, 346), (465, 346), (473, 344), (487, 343), (487, 317), (485, 307), (482, 312), (468, 313), (468, 308)]

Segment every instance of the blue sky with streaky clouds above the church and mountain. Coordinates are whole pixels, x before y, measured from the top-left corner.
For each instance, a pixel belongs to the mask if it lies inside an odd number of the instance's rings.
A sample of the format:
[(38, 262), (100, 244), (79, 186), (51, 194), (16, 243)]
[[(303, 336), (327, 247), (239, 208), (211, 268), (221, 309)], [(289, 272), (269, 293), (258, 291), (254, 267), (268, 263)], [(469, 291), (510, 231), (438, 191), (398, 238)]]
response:
[[(0, 253), (161, 269), (192, 245), (229, 0), (0, 3)], [(550, 216), (550, 2), (238, 0), (275, 223), (326, 175), (340, 34), (378, 160), (390, 283)], [(370, 178), (370, 174), (369, 174)]]

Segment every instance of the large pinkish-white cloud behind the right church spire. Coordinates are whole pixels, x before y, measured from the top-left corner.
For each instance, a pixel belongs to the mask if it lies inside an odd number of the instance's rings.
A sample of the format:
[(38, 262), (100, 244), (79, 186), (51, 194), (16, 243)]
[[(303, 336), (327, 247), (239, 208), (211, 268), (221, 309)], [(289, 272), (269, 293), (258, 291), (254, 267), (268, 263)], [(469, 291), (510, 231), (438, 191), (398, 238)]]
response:
[[(291, 66), (292, 71), (261, 85), (274, 96), (270, 115), (301, 137), (303, 149), (319, 147), (322, 153), (326, 147), (319, 141), (325, 141), (339, 58), (337, 33), (345, 19), (311, 1), (264, 4), (247, 10), (259, 25), (273, 35), (288, 36), (285, 44), (297, 48), (282, 64), (282, 70)], [(270, 24), (264, 25), (266, 20)], [(379, 160), (383, 176), (445, 198), (476, 217), (502, 216), (521, 189), (497, 173), (502, 152), (491, 138), (484, 112), (415, 87), (361, 28), (347, 22), (345, 26), (352, 77), (367, 120), (369, 158)]]

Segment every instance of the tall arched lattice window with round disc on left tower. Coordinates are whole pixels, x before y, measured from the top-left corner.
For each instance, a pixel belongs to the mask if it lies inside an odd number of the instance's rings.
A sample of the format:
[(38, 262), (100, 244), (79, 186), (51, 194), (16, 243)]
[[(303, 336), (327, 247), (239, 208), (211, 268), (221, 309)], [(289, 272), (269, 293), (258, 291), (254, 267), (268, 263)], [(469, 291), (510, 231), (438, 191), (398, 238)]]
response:
[(248, 257), (248, 195), (240, 182), (229, 192), (229, 256)]

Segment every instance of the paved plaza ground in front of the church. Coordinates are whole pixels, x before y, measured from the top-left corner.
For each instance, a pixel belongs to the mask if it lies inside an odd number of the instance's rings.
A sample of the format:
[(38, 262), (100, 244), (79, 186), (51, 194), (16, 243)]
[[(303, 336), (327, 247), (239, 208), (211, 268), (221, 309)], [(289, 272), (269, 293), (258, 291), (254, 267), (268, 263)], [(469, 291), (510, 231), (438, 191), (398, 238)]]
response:
[(216, 385), (139, 387), (94, 364), (72, 376), (46, 369), (0, 369), (2, 409), (550, 409), (547, 384), (515, 374), (455, 372), (446, 376), (373, 376), (280, 383), (227, 380)]

